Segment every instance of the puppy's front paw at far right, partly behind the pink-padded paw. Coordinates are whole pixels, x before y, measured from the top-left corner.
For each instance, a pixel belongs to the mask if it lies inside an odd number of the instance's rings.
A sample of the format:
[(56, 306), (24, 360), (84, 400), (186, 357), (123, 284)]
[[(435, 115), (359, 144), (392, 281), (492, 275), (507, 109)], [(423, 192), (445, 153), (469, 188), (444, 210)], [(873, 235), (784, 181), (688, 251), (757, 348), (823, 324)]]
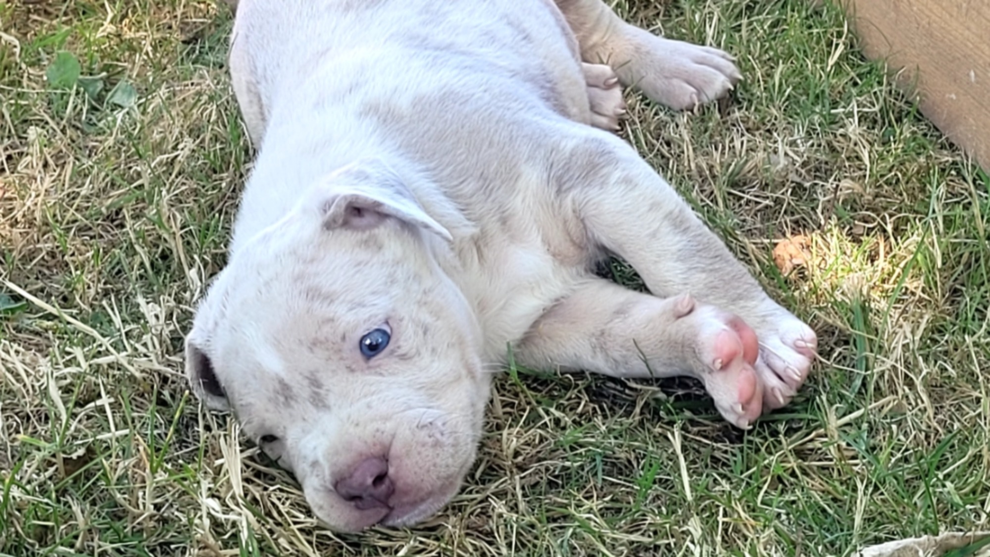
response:
[(818, 336), (779, 306), (775, 315), (760, 321), (763, 324), (756, 327), (759, 357), (754, 368), (763, 384), (763, 406), (773, 410), (789, 403), (808, 379)]

